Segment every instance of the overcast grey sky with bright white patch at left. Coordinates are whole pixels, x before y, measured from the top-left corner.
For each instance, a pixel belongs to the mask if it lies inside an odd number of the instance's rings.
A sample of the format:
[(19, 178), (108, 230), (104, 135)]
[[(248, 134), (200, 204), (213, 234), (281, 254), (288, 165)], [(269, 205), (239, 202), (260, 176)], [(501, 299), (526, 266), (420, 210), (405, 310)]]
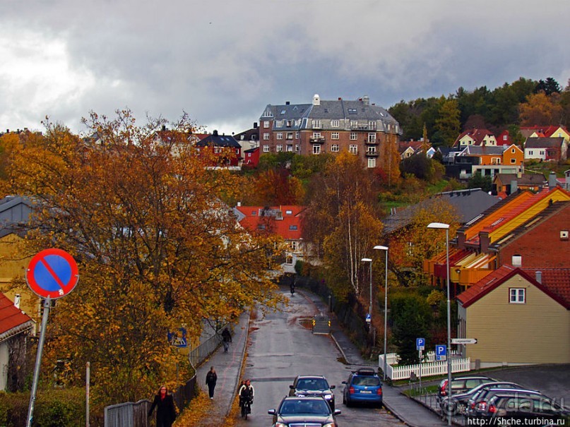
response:
[(570, 78), (569, 0), (0, 0), (0, 131), (131, 109), (239, 133), (266, 104), (389, 108)]

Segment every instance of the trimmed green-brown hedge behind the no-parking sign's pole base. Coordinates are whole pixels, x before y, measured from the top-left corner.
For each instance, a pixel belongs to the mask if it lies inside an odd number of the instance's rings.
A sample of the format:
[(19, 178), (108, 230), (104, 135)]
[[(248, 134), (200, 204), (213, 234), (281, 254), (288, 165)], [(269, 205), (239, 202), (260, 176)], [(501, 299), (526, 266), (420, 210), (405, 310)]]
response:
[[(0, 425), (25, 426), (29, 392), (0, 393)], [(32, 426), (66, 427), (85, 425), (85, 390), (82, 388), (38, 391)]]

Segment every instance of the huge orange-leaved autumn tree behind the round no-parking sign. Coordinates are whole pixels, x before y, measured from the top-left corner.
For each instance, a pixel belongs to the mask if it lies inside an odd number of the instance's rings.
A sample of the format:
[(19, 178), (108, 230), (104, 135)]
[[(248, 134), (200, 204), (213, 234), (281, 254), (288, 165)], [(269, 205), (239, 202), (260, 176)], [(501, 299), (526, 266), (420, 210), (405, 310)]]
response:
[(93, 113), (80, 138), (47, 123), (8, 168), (13, 193), (35, 200), (30, 254), (59, 247), (79, 264), (78, 286), (52, 311), (44, 363), (69, 361), (73, 382), (90, 361), (98, 407), (184, 378), (187, 357), (167, 332), (198, 336), (204, 319), (223, 323), (277, 301), (266, 273), (273, 239), (245, 234), (223, 201), (234, 176), (204, 167), (187, 116), (158, 137), (165, 124)]

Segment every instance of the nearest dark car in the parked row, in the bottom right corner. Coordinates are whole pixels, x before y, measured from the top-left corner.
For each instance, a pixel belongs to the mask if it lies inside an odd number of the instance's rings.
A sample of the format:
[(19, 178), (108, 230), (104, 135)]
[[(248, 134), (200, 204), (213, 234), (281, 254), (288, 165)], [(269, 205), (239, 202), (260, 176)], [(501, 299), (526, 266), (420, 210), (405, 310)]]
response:
[(562, 420), (569, 414), (569, 411), (543, 395), (495, 393), (486, 401), (485, 410), (478, 412), (477, 418), (485, 420), (485, 426), (497, 425), (501, 420), (507, 420), (509, 425), (523, 425), (522, 420), (537, 420), (541, 426), (550, 426), (552, 421)]

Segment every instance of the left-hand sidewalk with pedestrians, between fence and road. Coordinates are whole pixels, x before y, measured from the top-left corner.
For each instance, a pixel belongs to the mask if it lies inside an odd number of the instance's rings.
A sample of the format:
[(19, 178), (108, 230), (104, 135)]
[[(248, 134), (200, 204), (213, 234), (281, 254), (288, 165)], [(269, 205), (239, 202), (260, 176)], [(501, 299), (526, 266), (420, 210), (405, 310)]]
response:
[(244, 360), (248, 333), (249, 313), (242, 313), (238, 323), (234, 325), (232, 344), (230, 344), (230, 349), (227, 353), (220, 346), (209, 359), (196, 369), (196, 381), (206, 396), (208, 395), (206, 373), (213, 366), (216, 374), (218, 374), (212, 402), (213, 408), (210, 411), (209, 419), (203, 420), (201, 426), (218, 426), (220, 425), (220, 420), (230, 413), (242, 375), (242, 361)]

